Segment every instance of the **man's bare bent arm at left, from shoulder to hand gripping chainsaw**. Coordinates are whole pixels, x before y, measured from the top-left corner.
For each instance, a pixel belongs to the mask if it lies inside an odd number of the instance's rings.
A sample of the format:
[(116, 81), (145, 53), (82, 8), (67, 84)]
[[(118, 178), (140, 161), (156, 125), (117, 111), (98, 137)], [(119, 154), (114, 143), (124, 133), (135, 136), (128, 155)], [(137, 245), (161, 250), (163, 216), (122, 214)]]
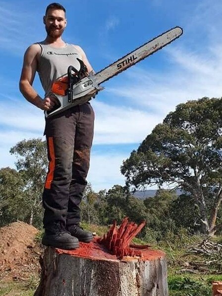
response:
[(37, 57), (38, 54), (40, 54), (40, 51), (41, 48), (38, 44), (33, 44), (26, 50), (19, 81), (19, 89), (25, 99), (27, 99), (30, 103), (34, 104), (42, 110), (49, 110), (52, 109), (55, 105), (55, 99), (42, 99), (32, 87), (37, 71)]

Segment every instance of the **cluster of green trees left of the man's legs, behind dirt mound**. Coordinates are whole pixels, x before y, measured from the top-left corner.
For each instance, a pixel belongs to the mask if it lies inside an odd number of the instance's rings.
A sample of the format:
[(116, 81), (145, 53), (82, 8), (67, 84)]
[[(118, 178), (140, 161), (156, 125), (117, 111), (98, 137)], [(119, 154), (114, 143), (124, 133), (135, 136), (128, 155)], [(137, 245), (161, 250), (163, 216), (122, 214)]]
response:
[(48, 160), (46, 143), (23, 140), (10, 149), (17, 170), (0, 169), (0, 225), (22, 220), (42, 227), (42, 192)]

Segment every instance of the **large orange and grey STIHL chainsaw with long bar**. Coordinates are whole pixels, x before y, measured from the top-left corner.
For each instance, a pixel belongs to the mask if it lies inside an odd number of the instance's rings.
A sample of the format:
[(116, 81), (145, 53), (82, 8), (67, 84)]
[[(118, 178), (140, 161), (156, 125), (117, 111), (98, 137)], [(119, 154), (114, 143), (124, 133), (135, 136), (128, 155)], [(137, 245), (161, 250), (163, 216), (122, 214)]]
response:
[(53, 83), (52, 95), (56, 97), (58, 104), (52, 110), (45, 111), (46, 118), (95, 98), (95, 95), (104, 89), (104, 87), (100, 86), (101, 83), (108, 81), (113, 76), (135, 65), (157, 50), (162, 49), (180, 37), (182, 33), (183, 30), (180, 27), (172, 28), (139, 48), (127, 53), (97, 73), (88, 73), (83, 61), (78, 59), (80, 70), (69, 66), (67, 74), (59, 77)]

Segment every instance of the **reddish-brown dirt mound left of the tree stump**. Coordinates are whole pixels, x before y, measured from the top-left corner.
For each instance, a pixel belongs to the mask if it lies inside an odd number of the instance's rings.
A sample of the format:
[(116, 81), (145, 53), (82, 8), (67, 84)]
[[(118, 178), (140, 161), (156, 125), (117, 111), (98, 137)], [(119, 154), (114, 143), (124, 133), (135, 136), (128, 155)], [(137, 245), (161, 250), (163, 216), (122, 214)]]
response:
[(0, 278), (28, 278), (40, 271), (38, 230), (24, 222), (0, 228)]

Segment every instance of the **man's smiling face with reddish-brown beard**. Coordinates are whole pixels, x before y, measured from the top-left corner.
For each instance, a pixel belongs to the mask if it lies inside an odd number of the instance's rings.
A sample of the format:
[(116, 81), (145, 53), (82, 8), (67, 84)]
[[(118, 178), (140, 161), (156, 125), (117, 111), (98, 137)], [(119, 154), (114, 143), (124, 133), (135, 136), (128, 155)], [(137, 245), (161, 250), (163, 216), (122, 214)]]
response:
[(62, 35), (66, 27), (66, 18), (63, 10), (50, 9), (43, 20), (48, 36), (59, 38)]

